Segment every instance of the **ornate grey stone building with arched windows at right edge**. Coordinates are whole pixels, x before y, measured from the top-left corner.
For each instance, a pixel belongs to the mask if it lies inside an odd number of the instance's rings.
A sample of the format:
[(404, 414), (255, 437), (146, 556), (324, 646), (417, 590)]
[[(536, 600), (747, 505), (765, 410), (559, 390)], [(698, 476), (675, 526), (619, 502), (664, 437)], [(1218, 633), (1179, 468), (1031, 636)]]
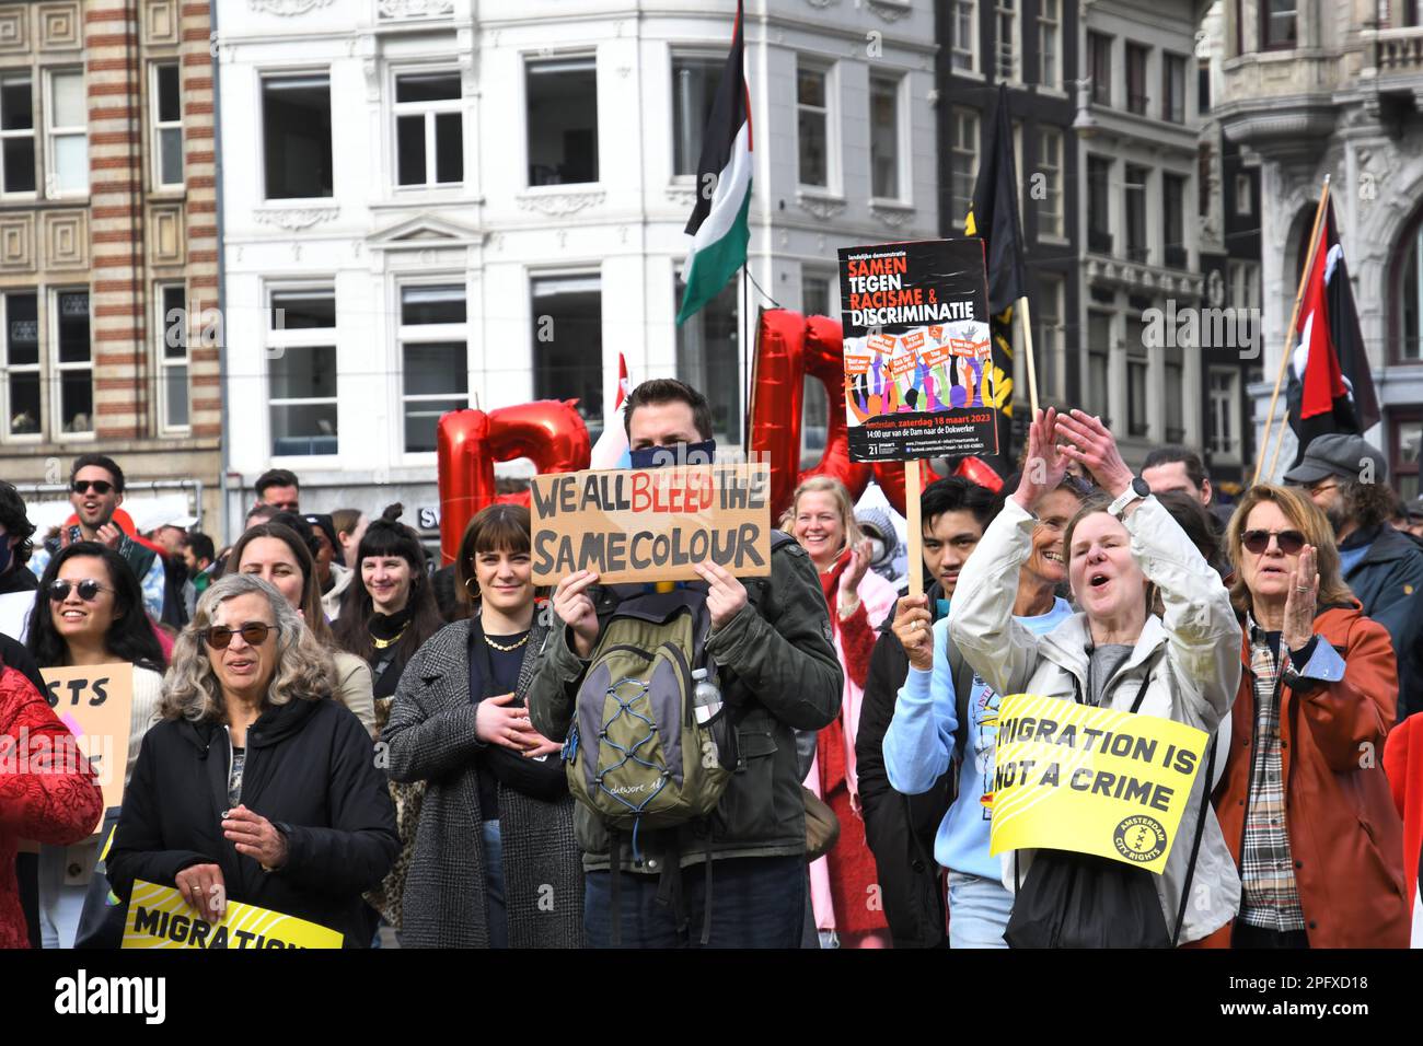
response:
[[(1265, 424), (1328, 175), (1383, 413), (1366, 435), (1387, 454), (1390, 478), (1412, 498), (1419, 492), (1423, 440), (1417, 6), (1228, 0), (1224, 14), (1218, 115), (1227, 137), (1259, 165), (1261, 179), (1265, 352), (1262, 380), (1251, 386), (1254, 426), (1261, 431)], [(1281, 403), (1276, 427), (1282, 418)], [(1294, 434), (1286, 430), (1276, 475), (1294, 457)]]

